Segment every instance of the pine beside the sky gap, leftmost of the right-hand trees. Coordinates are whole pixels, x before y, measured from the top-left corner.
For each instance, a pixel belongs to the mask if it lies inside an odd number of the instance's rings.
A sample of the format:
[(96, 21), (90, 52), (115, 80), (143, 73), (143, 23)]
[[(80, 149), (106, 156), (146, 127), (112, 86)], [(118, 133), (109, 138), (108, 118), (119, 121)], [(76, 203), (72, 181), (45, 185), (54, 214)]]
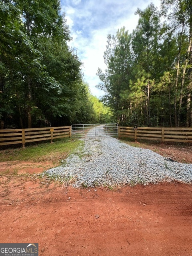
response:
[(103, 73), (98, 68), (97, 75), (102, 81), (98, 88), (106, 92), (103, 101), (112, 109), (115, 118), (120, 123), (124, 122), (125, 119), (122, 113), (120, 93), (128, 86), (132, 65), (130, 52), (131, 36), (123, 27), (117, 31), (116, 36), (109, 34), (107, 39), (106, 51), (104, 52), (104, 61), (107, 69)]

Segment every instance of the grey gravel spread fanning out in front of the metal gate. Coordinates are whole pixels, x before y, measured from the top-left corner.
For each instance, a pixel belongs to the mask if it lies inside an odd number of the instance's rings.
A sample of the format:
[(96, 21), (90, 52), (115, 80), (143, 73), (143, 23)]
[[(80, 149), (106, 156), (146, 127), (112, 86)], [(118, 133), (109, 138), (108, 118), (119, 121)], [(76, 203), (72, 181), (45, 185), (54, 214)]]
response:
[(83, 148), (70, 155), (65, 164), (47, 170), (43, 176), (68, 182), (76, 188), (163, 181), (192, 183), (192, 164), (170, 162), (152, 150), (132, 147), (110, 136), (82, 140)]

